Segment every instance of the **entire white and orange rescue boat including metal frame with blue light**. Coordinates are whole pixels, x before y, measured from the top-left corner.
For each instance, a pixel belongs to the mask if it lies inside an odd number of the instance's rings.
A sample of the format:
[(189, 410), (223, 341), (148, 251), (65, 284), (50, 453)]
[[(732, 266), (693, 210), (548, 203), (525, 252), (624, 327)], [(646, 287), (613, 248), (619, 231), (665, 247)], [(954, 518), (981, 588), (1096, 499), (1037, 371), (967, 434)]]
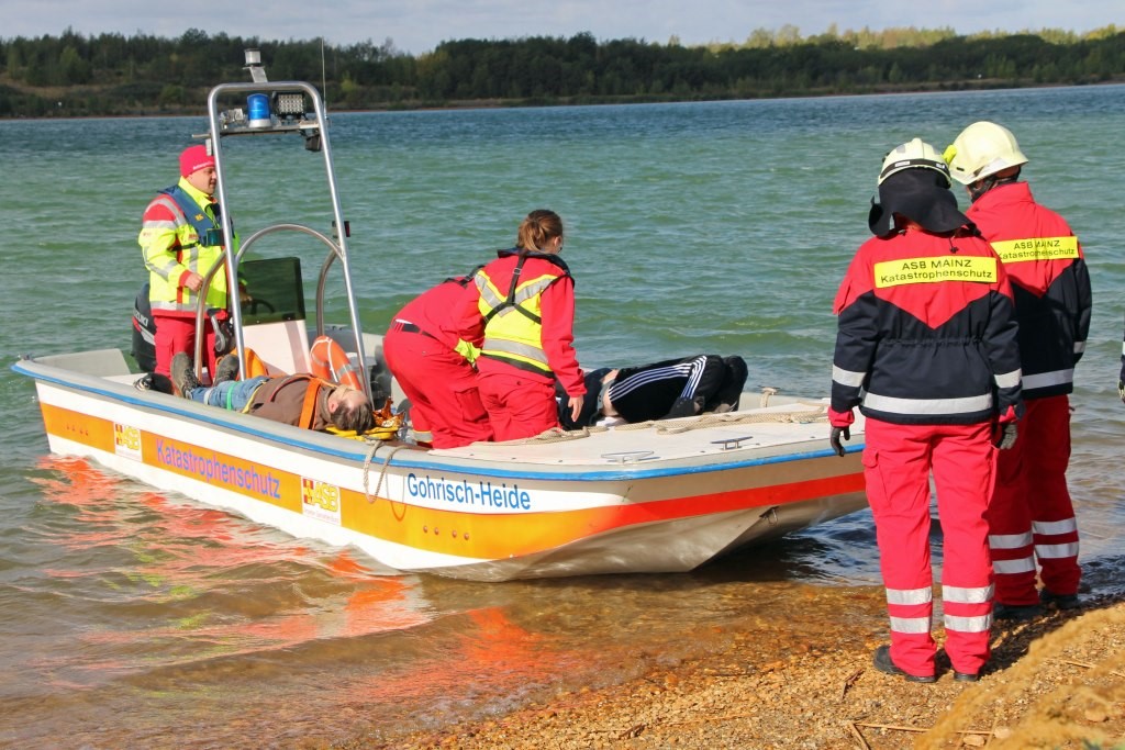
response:
[[(327, 336), (362, 373), (376, 406), (396, 403), (402, 394), (382, 364), (381, 337), (360, 327), (323, 100), (307, 83), (269, 82), (256, 55), (248, 53), (248, 67), (253, 82), (212, 90), (210, 128), (197, 136), (215, 155), (219, 202), (228, 205), (227, 141), (297, 134), (323, 154), (334, 218), (327, 232), (270, 225), (240, 249), (228, 243), (226, 269), (253, 290), (230, 311), (242, 372), (251, 352), (270, 372), (307, 372), (309, 341)], [(232, 99), (246, 101), (250, 116), (223, 109)], [(242, 260), (278, 232), (326, 247), (314, 322), (299, 259)], [(350, 325), (324, 320), (334, 272)], [(208, 325), (202, 309), (197, 325)], [(429, 450), (395, 431), (395, 421), (389, 433), (344, 436), (138, 390), (143, 373), (119, 349), (25, 356), (12, 369), (35, 380), (52, 452), (295, 536), (353, 545), (404, 572), (500, 581), (688, 571), (865, 506), (863, 418), (845, 457), (836, 455), (827, 399), (746, 394), (742, 408), (726, 414)]]

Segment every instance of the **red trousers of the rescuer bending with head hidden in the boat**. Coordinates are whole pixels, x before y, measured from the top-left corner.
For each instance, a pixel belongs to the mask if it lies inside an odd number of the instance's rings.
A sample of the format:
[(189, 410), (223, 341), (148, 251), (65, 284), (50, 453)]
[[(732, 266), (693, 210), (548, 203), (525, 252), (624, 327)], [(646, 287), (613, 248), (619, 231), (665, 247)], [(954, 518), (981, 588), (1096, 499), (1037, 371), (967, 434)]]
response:
[(424, 333), (395, 328), (382, 340), (382, 354), (411, 399), (418, 442), (457, 448), (493, 439), (477, 373), (468, 360)]

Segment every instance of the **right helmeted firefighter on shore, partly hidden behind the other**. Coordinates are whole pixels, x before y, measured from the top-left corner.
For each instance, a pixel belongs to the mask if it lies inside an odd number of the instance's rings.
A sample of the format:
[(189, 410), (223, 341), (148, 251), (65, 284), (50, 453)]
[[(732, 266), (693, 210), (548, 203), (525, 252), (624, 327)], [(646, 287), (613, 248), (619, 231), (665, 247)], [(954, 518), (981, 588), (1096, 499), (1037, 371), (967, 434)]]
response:
[(945, 156), (972, 200), (968, 216), (1004, 261), (1016, 299), (1027, 413), (1019, 440), (1000, 455), (988, 519), (994, 616), (1028, 620), (1042, 604), (1079, 606), (1082, 573), (1066, 464), (1074, 365), (1090, 329), (1090, 275), (1070, 226), (1020, 182), (1027, 156), (1008, 128), (974, 123)]

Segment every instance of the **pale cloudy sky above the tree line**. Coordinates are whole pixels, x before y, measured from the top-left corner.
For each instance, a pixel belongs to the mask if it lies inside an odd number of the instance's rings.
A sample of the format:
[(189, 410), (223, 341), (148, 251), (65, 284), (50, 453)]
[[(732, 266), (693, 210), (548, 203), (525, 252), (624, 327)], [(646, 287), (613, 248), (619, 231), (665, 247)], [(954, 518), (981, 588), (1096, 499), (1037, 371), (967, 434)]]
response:
[(412, 55), (453, 39), (570, 37), (681, 44), (745, 42), (756, 29), (795, 27), (801, 36), (847, 29), (953, 28), (957, 34), (1058, 28), (1125, 29), (1122, 0), (0, 0), (0, 38), (117, 33), (178, 38), (324, 38), (338, 46), (390, 42)]

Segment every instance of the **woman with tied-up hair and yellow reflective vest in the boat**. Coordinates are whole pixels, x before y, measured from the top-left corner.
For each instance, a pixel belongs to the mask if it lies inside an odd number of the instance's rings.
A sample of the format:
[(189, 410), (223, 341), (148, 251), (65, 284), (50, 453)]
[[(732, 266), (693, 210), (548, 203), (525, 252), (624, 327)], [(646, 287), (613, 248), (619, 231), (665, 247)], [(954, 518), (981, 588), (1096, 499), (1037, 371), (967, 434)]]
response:
[(477, 315), (461, 337), (484, 323), (477, 383), (496, 440), (532, 437), (559, 426), (555, 380), (572, 418), (586, 385), (574, 351), (574, 279), (559, 257), (562, 219), (547, 209), (528, 214), (516, 246), (502, 250), (474, 278)]

